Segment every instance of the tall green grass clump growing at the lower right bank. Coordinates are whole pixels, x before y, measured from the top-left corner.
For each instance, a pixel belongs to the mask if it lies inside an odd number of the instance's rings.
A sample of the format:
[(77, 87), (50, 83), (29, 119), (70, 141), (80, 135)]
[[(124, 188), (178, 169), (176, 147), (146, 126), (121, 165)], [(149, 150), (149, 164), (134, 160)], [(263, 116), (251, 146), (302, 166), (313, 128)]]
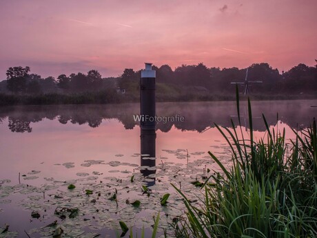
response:
[(238, 94), (236, 101), (238, 127), (216, 125), (231, 148), (232, 168), (209, 152), (223, 172), (207, 179), (200, 206), (174, 186), (187, 208), (186, 219), (174, 223), (176, 237), (317, 237), (316, 120), (303, 135), (294, 130), (287, 148), (285, 130), (270, 130), (263, 115), (266, 136), (255, 141), (248, 100), (245, 139)]

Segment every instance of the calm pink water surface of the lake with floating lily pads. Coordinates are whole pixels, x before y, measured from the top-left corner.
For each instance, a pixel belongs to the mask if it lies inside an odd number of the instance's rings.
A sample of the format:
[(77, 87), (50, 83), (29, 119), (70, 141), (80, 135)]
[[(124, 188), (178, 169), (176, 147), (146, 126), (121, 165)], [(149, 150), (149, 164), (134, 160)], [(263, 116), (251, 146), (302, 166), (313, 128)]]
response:
[[(285, 128), (287, 138), (294, 138), (291, 128), (305, 128), (316, 117), (317, 108), (311, 106), (317, 100), (254, 101), (256, 137), (264, 135), (264, 113), (269, 126)], [(32, 237), (52, 237), (56, 227), (45, 226), (57, 220), (65, 237), (112, 237), (113, 230), (120, 230), (119, 220), (138, 230), (150, 227), (152, 216), (161, 212), (161, 226), (167, 227), (183, 209), (170, 182), (190, 192), (196, 190), (190, 181), (208, 175), (207, 169), (219, 171), (208, 150), (229, 166), (228, 146), (214, 123), (237, 123), (236, 103), (158, 103), (157, 115), (181, 115), (185, 121), (157, 124), (156, 167), (150, 177), (140, 167), (140, 128), (133, 118), (138, 114), (138, 103), (0, 108), (0, 226), (9, 224), (17, 237), (25, 237), (24, 230)], [(245, 102), (241, 122), (248, 135)], [(76, 188), (68, 190), (69, 184)], [(149, 197), (142, 185), (153, 185)], [(94, 194), (85, 195), (87, 189)], [(115, 191), (118, 206), (108, 199)], [(171, 193), (170, 204), (163, 207), (159, 201), (165, 192)], [(138, 199), (141, 206), (134, 208), (126, 199)], [(54, 215), (59, 207), (79, 208), (79, 215), (61, 219)], [(32, 218), (32, 211), (40, 211), (41, 217)]]

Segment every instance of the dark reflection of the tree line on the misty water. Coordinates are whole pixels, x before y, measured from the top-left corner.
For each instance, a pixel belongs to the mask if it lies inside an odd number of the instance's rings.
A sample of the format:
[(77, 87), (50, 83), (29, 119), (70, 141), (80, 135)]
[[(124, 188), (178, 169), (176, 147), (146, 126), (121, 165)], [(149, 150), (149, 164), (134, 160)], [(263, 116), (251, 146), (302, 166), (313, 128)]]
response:
[[(254, 101), (252, 103), (253, 126), (255, 130), (265, 130), (262, 113), (269, 126), (276, 125), (276, 117), (292, 128), (309, 126), (316, 117), (317, 109), (311, 108), (315, 101)], [(192, 102), (192, 103), (158, 103), (158, 116), (173, 117), (176, 114), (185, 117), (185, 121), (167, 121), (157, 123), (156, 129), (168, 132), (174, 126), (179, 130), (196, 130), (203, 132), (214, 127), (231, 127), (231, 120), (238, 123), (236, 103), (234, 102)], [(0, 122), (8, 118), (8, 127), (12, 132), (32, 132), (32, 124), (43, 119), (57, 119), (60, 123), (88, 124), (92, 128), (99, 127), (103, 119), (117, 119), (125, 129), (133, 129), (139, 122), (133, 115), (139, 114), (139, 103), (119, 105), (64, 105), (64, 106), (16, 106), (2, 108)], [(249, 127), (247, 107), (241, 103), (242, 126)], [(298, 126), (298, 123), (300, 123)]]

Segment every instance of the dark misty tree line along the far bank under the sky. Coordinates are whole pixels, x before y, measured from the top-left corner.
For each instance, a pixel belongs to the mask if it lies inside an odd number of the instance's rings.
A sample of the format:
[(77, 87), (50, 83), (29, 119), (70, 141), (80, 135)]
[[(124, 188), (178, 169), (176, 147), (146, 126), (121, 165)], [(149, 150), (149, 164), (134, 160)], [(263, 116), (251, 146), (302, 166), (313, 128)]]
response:
[[(317, 61), (316, 61), (317, 62)], [(182, 65), (172, 70), (168, 65), (153, 66), (156, 70), (156, 83), (164, 94), (193, 92), (198, 89), (207, 93), (232, 93), (232, 82), (245, 80), (246, 68), (207, 68), (203, 63)], [(39, 95), (48, 93), (71, 94), (79, 92), (100, 92), (102, 90), (125, 89), (127, 95), (138, 94), (141, 70), (125, 68), (119, 77), (102, 78), (98, 70), (90, 70), (87, 74), (78, 72), (69, 76), (59, 75), (46, 77), (30, 73), (30, 67), (10, 67), (7, 79), (0, 82), (0, 92), (14, 95)], [(262, 81), (252, 84), (254, 94), (314, 94), (317, 92), (317, 65), (306, 66), (303, 63), (294, 66), (287, 72), (278, 72), (268, 63), (254, 63), (249, 66), (249, 81)]]

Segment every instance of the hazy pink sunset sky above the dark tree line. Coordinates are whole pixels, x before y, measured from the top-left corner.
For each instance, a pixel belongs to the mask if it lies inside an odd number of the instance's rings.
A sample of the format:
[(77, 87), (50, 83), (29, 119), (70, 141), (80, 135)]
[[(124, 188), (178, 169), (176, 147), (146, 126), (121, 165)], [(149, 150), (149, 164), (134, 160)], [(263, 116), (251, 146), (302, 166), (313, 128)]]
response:
[(0, 80), (11, 66), (42, 77), (144, 62), (278, 70), (317, 58), (316, 0), (2, 0)]

